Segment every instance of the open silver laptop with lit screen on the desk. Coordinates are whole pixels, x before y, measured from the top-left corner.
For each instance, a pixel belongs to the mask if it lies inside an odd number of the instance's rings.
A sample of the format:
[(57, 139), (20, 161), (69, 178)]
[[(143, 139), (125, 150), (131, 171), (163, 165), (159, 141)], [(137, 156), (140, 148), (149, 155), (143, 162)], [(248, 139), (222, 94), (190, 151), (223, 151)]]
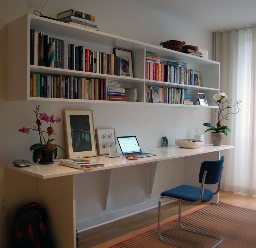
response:
[(132, 153), (139, 158), (156, 156), (156, 154), (154, 153), (142, 152), (135, 135), (117, 137), (117, 141), (123, 155), (129, 155), (130, 153)]

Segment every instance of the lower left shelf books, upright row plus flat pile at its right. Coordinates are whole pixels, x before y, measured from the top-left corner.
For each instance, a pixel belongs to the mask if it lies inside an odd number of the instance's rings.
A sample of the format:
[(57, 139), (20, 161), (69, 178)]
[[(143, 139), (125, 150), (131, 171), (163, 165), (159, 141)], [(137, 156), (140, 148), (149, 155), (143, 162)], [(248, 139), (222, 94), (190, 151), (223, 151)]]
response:
[(118, 80), (30, 75), (31, 97), (125, 101), (124, 92)]

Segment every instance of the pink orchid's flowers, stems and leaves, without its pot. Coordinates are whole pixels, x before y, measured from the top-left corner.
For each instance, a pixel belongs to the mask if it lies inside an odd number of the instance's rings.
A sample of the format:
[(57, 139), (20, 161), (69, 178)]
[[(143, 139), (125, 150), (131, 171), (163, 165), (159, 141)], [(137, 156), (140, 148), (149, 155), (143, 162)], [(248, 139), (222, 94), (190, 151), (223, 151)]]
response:
[[(54, 139), (50, 139), (51, 135), (55, 135), (52, 124), (55, 123), (55, 122), (60, 123), (61, 122), (61, 117), (59, 117), (59, 116), (54, 117), (54, 115), (48, 116), (46, 113), (40, 113), (39, 106), (40, 105), (38, 105), (38, 106), (35, 105), (35, 110), (33, 110), (34, 113), (35, 113), (35, 116), (37, 118), (36, 121), (35, 121), (37, 126), (33, 126), (33, 128), (27, 128), (27, 127), (24, 126), (24, 127), (22, 127), (21, 129), (18, 130), (19, 132), (27, 133), (27, 134), (30, 132), (30, 130), (35, 130), (39, 133), (40, 143), (33, 144), (30, 147), (30, 150), (33, 151), (33, 161), (34, 161), (34, 163), (37, 163), (37, 161), (38, 161), (38, 159), (41, 155), (42, 149), (48, 150), (48, 151), (54, 151), (54, 158), (57, 157), (57, 147), (61, 148), (65, 152), (65, 150), (62, 147), (51, 143), (52, 141), (54, 141)], [(47, 127), (47, 131), (43, 131), (41, 129), (41, 125), (42, 125), (41, 121), (45, 121), (45, 122), (50, 124), (50, 126)], [(43, 136), (43, 134), (47, 134), (48, 137), (45, 138)]]

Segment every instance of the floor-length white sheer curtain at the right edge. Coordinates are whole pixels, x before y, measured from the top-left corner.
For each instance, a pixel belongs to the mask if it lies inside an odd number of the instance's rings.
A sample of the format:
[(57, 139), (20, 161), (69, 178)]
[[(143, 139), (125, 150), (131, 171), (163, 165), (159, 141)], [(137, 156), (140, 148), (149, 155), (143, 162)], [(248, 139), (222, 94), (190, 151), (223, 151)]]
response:
[[(220, 92), (242, 100), (241, 111), (230, 115), (222, 188), (256, 195), (256, 26), (214, 33), (214, 59), (221, 64)], [(224, 123), (223, 123), (224, 124)]]

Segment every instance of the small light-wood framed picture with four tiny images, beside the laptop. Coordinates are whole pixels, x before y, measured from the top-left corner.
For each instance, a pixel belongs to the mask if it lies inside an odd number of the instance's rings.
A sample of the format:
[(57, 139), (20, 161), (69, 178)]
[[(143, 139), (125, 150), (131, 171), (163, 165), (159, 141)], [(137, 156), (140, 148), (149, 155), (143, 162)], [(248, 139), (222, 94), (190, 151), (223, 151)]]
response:
[(109, 145), (115, 144), (115, 129), (95, 129), (97, 155), (109, 154)]

